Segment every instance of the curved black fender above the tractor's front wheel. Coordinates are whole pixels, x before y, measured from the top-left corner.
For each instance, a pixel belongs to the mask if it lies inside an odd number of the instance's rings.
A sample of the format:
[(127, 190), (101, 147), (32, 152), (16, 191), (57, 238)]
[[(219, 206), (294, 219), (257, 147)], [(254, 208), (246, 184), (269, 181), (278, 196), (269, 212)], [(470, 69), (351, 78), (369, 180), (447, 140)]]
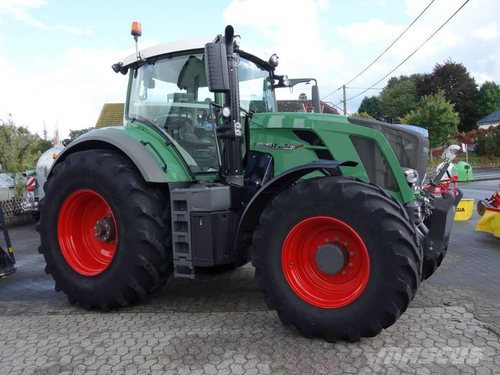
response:
[(236, 231), (235, 246), (240, 247), (251, 239), (260, 214), (272, 197), (303, 176), (320, 171), (325, 176), (340, 175), (339, 166), (356, 166), (355, 161), (315, 161), (288, 169), (265, 183), (246, 205)]

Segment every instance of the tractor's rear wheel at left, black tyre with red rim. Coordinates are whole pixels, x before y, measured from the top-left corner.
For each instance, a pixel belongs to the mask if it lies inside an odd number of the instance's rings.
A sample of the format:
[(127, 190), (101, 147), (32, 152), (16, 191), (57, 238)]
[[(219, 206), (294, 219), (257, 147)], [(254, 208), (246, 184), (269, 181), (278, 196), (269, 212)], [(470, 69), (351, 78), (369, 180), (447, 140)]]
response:
[(45, 272), (70, 303), (127, 306), (172, 272), (165, 187), (144, 181), (124, 155), (75, 152), (55, 165), (39, 203)]

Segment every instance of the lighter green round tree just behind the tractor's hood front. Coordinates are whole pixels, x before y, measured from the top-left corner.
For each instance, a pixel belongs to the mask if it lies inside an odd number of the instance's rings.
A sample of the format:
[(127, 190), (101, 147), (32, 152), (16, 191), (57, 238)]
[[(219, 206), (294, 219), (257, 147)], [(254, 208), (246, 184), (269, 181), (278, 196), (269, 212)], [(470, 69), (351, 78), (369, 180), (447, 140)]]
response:
[(460, 122), (454, 105), (446, 100), (442, 90), (422, 96), (418, 107), (404, 116), (404, 122), (426, 128), (430, 147), (440, 147), (450, 135), (457, 132)]

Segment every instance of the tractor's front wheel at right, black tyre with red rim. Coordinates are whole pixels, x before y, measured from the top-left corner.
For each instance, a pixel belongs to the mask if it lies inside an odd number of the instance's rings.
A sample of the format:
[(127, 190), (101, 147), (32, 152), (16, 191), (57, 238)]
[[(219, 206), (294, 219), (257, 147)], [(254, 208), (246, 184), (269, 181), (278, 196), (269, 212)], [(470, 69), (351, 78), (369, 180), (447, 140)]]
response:
[[(352, 178), (304, 180), (282, 191), (262, 212), (253, 242), (267, 306), (285, 325), (329, 342), (378, 334), (420, 282), (421, 251), (406, 210)], [(332, 253), (344, 261), (337, 268), (328, 263)]]

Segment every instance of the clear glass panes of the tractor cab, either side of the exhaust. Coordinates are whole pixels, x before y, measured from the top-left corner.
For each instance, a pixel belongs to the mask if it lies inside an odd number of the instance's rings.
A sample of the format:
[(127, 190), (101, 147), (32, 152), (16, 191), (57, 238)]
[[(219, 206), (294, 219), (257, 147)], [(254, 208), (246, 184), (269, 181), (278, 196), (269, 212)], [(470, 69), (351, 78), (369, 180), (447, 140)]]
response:
[[(253, 113), (275, 112), (269, 71), (240, 57), (238, 73), (241, 107)], [(145, 120), (166, 133), (192, 172), (217, 171), (208, 104), (218, 100), (207, 87), (203, 54), (163, 58), (132, 74), (128, 118)]]

